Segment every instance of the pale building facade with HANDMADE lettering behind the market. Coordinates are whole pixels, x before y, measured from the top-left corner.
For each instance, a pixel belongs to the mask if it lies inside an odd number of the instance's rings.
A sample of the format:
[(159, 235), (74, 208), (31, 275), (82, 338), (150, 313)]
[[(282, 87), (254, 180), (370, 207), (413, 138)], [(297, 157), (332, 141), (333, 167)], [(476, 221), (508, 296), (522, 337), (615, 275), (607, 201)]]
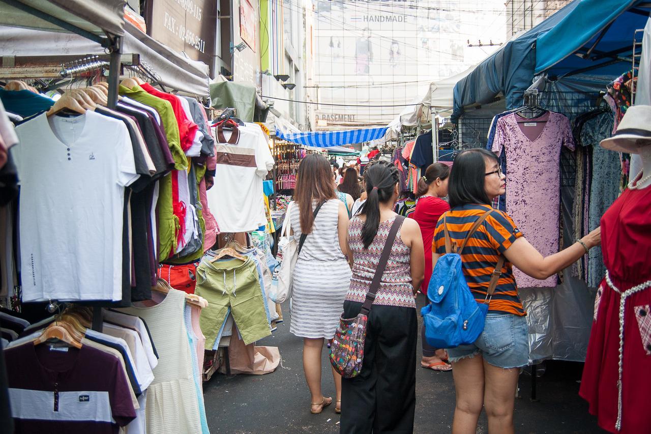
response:
[(315, 116), (324, 130), (385, 126), (432, 81), (477, 64), (504, 41), (502, 0), (314, 4)]

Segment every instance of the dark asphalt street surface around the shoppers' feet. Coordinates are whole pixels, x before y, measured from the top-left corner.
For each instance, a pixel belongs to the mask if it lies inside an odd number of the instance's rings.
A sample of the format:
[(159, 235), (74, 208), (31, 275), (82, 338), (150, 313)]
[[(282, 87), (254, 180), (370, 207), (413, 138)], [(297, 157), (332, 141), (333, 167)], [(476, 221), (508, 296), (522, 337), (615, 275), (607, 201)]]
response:
[[(421, 301), (422, 304), (422, 301)], [(268, 375), (217, 374), (204, 384), (206, 414), (212, 433), (337, 433), (339, 415), (334, 403), (321, 414), (309, 412), (310, 397), (303, 377), (302, 341), (289, 332), (289, 306), (283, 306), (285, 322), (260, 341), (279, 347), (283, 368)], [(335, 388), (324, 349), (323, 390)], [(538, 379), (539, 402), (531, 402), (531, 377), (521, 375), (516, 400), (516, 433), (605, 433), (579, 398), (582, 364), (551, 362)], [(449, 433), (454, 412), (454, 384), (450, 372), (416, 371), (416, 433)], [(389, 399), (390, 397), (387, 397)], [(344, 409), (345, 411), (345, 409)], [(487, 433), (482, 414), (477, 433)]]

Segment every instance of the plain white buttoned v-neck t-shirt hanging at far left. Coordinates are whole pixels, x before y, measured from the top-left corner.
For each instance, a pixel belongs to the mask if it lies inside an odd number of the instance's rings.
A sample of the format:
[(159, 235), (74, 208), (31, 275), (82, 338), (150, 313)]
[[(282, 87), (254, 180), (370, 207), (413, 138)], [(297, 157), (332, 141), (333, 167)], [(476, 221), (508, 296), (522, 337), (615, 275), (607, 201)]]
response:
[(121, 300), (124, 188), (139, 177), (126, 126), (44, 113), (16, 134), (23, 301)]

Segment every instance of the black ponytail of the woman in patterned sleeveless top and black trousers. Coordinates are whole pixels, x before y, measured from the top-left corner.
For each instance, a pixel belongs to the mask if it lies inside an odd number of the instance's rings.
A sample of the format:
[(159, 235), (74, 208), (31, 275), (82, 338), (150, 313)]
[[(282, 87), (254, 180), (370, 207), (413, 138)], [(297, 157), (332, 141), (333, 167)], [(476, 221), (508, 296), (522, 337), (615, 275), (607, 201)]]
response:
[(393, 164), (379, 161), (367, 166), (364, 171), (367, 200), (364, 203), (362, 214), (366, 215), (366, 222), (362, 228), (362, 241), (364, 248), (375, 239), (380, 227), (380, 203), (387, 203), (393, 196), (393, 189), (400, 182), (400, 173)]

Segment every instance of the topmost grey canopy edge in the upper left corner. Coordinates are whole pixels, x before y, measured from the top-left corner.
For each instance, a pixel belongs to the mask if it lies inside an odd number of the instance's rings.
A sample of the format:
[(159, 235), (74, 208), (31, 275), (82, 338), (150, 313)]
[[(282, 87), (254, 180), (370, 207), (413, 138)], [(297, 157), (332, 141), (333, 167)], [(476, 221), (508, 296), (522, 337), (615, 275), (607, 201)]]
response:
[[(0, 25), (49, 31), (86, 32), (100, 42), (124, 35), (126, 0), (0, 0)], [(76, 28), (76, 29), (73, 29)]]

